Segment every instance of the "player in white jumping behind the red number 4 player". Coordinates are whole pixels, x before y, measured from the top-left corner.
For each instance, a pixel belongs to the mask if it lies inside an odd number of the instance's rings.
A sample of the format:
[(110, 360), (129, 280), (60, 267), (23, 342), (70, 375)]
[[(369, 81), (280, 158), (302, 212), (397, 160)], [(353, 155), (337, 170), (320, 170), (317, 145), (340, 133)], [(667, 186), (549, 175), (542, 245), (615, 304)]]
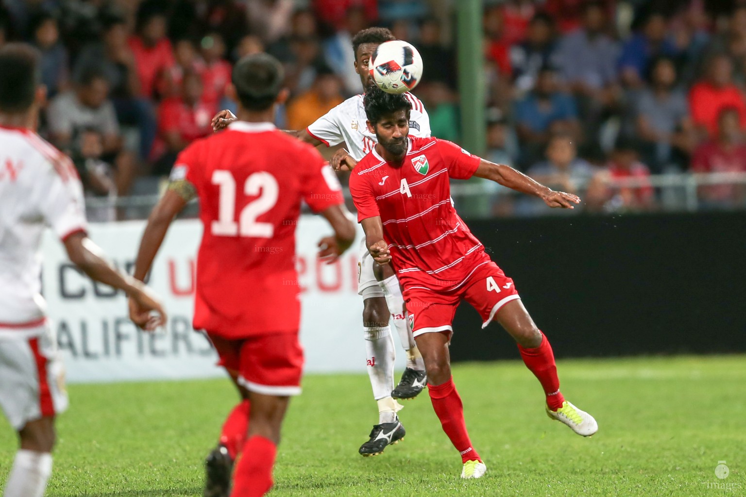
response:
[[(357, 33), (352, 39), (355, 54), (355, 72), (360, 75), (363, 88), (373, 84), (369, 63), (375, 49), (383, 42), (395, 39), (386, 28), (369, 28)], [(415, 95), (405, 94), (412, 104), (410, 134), (430, 136), (430, 118), (424, 105)], [(213, 118), (213, 127), (222, 129), (235, 119), (228, 110), (222, 110)], [(366, 126), (363, 95), (348, 98), (328, 113), (317, 119), (305, 130), (291, 131), (298, 139), (312, 145), (332, 147), (345, 142), (347, 150), (337, 151), (330, 164), (335, 170), (340, 165), (350, 168), (372, 151), (377, 139)], [(385, 180), (385, 179), (384, 179)], [(360, 260), (357, 266), (357, 291), (363, 297), (363, 332), (366, 339), (368, 374), (373, 387), (373, 396), (378, 404), (378, 424), (373, 426), (369, 440), (360, 447), (364, 456), (377, 455), (392, 443), (404, 437), (404, 427), (396, 413), (402, 406), (395, 399), (413, 399), (427, 384), (424, 362), (417, 349), (399, 282), (389, 266), (377, 265), (366, 247), (360, 243)], [(393, 320), (402, 346), (407, 351), (407, 369), (401, 381), (394, 387), (395, 347), (389, 326)]]

